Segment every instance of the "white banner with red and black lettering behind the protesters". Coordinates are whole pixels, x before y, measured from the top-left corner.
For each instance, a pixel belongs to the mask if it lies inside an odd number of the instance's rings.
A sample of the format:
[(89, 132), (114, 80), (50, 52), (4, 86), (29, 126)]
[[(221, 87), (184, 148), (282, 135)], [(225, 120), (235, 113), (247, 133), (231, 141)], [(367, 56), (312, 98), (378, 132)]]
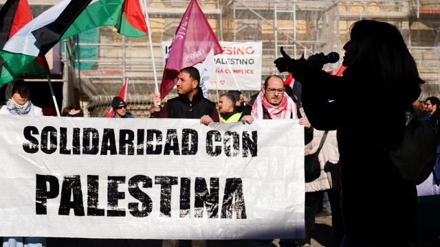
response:
[[(171, 41), (162, 41), (162, 58), (168, 56)], [(232, 71), (241, 90), (261, 89), (261, 64), (263, 58), (263, 43), (257, 42), (227, 42), (220, 41), (224, 55), (214, 56), (215, 75), (210, 77), (206, 84), (208, 89), (238, 90), (227, 62), (230, 63)], [(196, 64), (201, 69), (201, 63)]]

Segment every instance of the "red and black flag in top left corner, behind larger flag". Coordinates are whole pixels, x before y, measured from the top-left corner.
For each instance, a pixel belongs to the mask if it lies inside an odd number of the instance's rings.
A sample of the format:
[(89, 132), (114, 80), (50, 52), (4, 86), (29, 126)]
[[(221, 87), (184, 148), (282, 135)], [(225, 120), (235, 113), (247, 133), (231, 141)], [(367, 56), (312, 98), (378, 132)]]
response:
[[(28, 0), (8, 0), (0, 10), (0, 47), (16, 34), (21, 27), (32, 21)], [(0, 57), (0, 71), (3, 60)], [(49, 65), (44, 56), (37, 57), (25, 68), (28, 73), (49, 73)]]

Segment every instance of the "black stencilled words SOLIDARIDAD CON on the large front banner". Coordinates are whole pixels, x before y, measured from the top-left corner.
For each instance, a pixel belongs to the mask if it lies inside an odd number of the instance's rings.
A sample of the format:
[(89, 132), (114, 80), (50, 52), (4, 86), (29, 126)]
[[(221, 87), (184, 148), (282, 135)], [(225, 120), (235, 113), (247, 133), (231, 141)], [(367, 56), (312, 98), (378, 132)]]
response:
[[(119, 140), (115, 141), (118, 134)], [(195, 155), (199, 151), (199, 133), (196, 130), (184, 128), (181, 139), (177, 129), (167, 129), (166, 133), (156, 129), (116, 130), (113, 128), (67, 128), (59, 130), (45, 126), (42, 130), (35, 126), (23, 129), (23, 150), (29, 154), (44, 152), (45, 154), (100, 154), (100, 155)], [(234, 131), (206, 132), (206, 154), (234, 157), (257, 156), (257, 132)], [(81, 138), (82, 137), (82, 138)], [(68, 144), (69, 143), (69, 147)], [(241, 144), (241, 145), (240, 145)]]

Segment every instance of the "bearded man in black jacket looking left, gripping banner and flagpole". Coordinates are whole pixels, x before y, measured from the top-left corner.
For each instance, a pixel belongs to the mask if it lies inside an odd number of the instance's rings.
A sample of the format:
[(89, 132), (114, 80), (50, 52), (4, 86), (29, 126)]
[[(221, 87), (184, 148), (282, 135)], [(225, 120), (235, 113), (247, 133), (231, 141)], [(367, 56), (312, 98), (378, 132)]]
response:
[(177, 75), (178, 97), (168, 100), (160, 107), (160, 95), (153, 98), (153, 118), (200, 119), (202, 124), (219, 121), (219, 113), (214, 102), (203, 97), (199, 87), (200, 74), (195, 67), (186, 67)]

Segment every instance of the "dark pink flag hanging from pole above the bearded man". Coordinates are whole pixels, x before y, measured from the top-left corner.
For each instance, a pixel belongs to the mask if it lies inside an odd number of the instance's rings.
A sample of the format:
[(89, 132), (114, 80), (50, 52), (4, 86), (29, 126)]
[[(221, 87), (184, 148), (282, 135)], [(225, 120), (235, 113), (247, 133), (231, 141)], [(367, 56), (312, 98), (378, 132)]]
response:
[(214, 55), (223, 52), (197, 0), (191, 0), (171, 43), (160, 84), (162, 99), (173, 89), (179, 70), (205, 60), (210, 49)]

